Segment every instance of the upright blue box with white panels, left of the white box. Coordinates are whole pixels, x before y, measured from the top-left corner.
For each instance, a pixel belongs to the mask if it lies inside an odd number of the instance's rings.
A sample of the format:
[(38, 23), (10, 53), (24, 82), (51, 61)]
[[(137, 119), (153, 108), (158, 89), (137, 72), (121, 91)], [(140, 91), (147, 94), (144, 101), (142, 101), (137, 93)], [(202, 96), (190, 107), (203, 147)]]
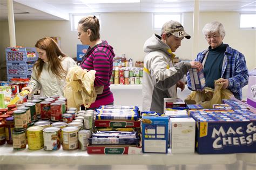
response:
[(142, 117), (142, 152), (167, 153), (168, 117)]

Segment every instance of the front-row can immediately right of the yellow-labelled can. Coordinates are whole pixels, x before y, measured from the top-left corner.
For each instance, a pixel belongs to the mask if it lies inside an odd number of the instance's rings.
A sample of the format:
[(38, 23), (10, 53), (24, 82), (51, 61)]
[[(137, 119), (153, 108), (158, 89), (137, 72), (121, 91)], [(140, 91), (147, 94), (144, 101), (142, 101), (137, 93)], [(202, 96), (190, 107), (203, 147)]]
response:
[(43, 130), (44, 150), (57, 151), (60, 147), (60, 128), (46, 127)]

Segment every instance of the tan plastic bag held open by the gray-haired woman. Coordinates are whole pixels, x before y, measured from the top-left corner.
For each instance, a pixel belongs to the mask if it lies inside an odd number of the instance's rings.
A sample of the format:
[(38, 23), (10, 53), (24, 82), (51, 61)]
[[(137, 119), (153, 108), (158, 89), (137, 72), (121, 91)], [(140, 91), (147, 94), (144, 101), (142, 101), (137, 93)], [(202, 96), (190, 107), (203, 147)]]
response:
[(222, 104), (223, 99), (234, 97), (230, 90), (222, 89), (223, 83), (215, 81), (215, 89), (206, 87), (203, 91), (193, 91), (186, 100), (194, 100), (204, 108), (212, 108), (213, 104)]

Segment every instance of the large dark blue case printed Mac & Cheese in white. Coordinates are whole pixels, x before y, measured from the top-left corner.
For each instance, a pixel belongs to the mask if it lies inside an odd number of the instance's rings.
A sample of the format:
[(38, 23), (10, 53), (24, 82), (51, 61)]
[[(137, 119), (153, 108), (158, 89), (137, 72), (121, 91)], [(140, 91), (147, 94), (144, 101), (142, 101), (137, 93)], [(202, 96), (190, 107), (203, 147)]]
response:
[(190, 112), (199, 154), (256, 153), (256, 114)]

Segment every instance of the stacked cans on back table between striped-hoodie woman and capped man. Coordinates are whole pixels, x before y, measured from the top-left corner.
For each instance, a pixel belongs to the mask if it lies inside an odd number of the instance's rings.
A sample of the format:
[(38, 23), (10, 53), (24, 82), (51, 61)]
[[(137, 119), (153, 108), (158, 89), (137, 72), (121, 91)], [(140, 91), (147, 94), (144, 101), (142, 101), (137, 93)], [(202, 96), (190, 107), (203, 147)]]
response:
[(114, 68), (112, 72), (112, 76), (110, 79), (111, 84), (142, 84), (143, 80), (143, 69), (142, 68), (134, 68), (134, 67), (126, 67), (124, 68)]

